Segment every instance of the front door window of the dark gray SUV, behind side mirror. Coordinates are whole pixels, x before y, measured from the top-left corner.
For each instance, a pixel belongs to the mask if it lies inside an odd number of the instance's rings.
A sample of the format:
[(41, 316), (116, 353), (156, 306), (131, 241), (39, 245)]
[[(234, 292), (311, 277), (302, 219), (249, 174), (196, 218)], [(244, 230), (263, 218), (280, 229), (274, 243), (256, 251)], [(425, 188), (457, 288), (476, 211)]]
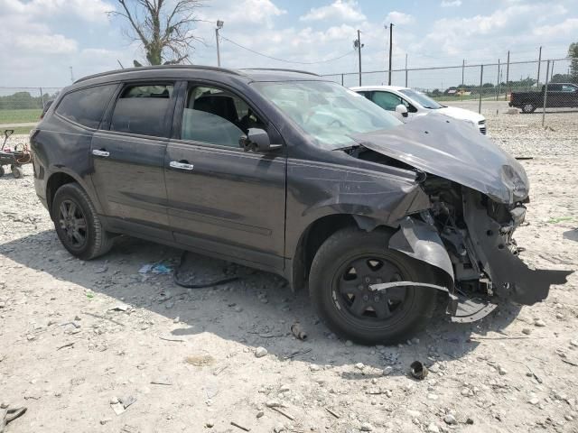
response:
[(219, 88), (191, 88), (182, 114), (182, 140), (239, 147), (249, 128), (266, 125), (245, 101)]

